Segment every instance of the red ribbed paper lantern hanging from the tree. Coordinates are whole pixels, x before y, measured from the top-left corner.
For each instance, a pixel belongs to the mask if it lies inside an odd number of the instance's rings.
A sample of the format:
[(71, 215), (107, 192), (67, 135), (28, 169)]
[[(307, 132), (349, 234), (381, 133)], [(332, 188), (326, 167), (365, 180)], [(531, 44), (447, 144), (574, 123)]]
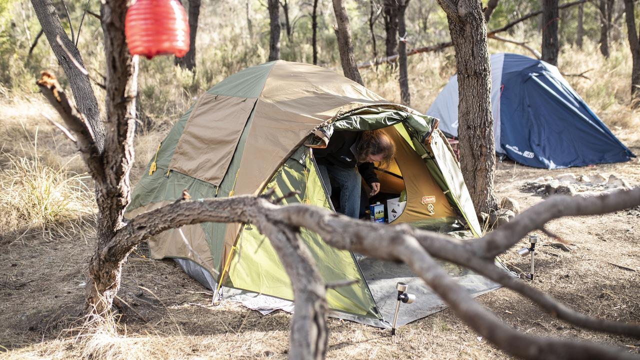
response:
[(127, 10), (124, 22), (129, 53), (147, 59), (189, 51), (187, 13), (177, 0), (137, 0)]

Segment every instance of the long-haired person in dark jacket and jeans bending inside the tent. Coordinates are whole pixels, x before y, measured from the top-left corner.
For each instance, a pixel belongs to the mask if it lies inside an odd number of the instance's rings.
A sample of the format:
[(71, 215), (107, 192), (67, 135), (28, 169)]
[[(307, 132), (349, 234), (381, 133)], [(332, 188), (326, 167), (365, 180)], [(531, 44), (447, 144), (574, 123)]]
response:
[(360, 217), (360, 176), (371, 187), (369, 196), (376, 195), (380, 192), (380, 182), (373, 163), (387, 167), (394, 154), (396, 144), (381, 130), (335, 131), (324, 149), (314, 149), (329, 196), (331, 176), (340, 187), (342, 213), (353, 218)]

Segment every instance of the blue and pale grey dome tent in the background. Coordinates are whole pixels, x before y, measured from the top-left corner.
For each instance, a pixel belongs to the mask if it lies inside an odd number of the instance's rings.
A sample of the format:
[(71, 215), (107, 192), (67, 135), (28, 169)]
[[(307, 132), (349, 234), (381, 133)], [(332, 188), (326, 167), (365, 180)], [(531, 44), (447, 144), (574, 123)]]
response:
[[(518, 163), (566, 168), (628, 161), (623, 145), (566, 82), (557, 67), (518, 54), (491, 56), (495, 149)], [(458, 78), (438, 94), (427, 115), (458, 136)]]

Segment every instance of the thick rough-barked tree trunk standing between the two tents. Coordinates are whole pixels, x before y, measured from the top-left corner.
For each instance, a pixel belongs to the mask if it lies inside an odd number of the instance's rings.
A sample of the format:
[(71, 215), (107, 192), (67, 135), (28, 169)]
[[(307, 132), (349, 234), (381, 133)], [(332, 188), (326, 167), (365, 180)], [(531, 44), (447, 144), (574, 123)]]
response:
[(477, 213), (497, 208), (493, 193), (495, 142), (491, 115), (491, 67), (480, 0), (456, 5), (438, 0), (447, 13), (458, 72), (458, 136), (461, 170)]

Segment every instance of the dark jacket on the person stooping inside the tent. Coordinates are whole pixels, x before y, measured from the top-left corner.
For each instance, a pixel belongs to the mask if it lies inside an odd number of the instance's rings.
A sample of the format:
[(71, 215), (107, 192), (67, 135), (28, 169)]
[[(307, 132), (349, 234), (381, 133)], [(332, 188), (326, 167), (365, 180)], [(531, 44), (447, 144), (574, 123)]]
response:
[(360, 176), (371, 186), (378, 183), (373, 163), (358, 163), (359, 131), (335, 131), (324, 149), (314, 149), (314, 157), (320, 165), (335, 165), (341, 168), (358, 168)]

